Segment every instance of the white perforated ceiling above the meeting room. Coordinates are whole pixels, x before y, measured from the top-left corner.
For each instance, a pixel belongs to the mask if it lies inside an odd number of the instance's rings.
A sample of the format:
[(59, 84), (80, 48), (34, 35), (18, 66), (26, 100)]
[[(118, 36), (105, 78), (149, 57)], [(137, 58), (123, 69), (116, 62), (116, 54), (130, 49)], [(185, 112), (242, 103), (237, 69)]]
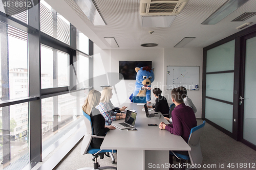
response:
[(256, 12), (255, 0), (249, 0), (216, 25), (201, 23), (227, 0), (189, 0), (169, 28), (142, 28), (140, 0), (94, 0), (106, 26), (94, 26), (73, 0), (45, 1), (102, 49), (111, 48), (104, 37), (115, 37), (120, 48), (148, 48), (140, 46), (142, 43), (159, 44), (154, 48), (174, 47), (184, 37), (196, 37), (184, 47), (205, 47), (239, 32), (236, 28), (245, 22), (256, 23), (256, 15), (230, 22), (244, 12)]

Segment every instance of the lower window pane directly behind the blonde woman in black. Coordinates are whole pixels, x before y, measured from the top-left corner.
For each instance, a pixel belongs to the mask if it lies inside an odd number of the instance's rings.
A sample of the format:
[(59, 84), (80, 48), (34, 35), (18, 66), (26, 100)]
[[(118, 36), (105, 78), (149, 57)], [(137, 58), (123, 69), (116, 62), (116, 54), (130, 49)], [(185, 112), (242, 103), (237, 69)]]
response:
[(83, 105), (86, 93), (84, 90), (79, 93), (83, 94), (80, 98), (73, 92), (42, 99), (42, 152), (82, 121), (77, 105)]

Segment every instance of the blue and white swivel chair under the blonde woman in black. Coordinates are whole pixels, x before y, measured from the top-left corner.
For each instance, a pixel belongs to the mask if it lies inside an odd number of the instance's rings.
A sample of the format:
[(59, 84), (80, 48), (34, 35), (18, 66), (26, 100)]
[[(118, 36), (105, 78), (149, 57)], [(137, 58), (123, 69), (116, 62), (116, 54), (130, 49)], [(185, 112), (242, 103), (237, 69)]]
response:
[(97, 158), (100, 157), (100, 159), (104, 158), (104, 155), (112, 158), (112, 163), (115, 162), (113, 153), (116, 153), (116, 150), (101, 150), (101, 149), (95, 149), (92, 148), (90, 143), (93, 137), (96, 138), (104, 138), (104, 136), (96, 136), (93, 135), (93, 127), (92, 127), (92, 120), (91, 117), (83, 112), (84, 122), (86, 123), (86, 134), (84, 134), (83, 140), (82, 140), (82, 147), (81, 147), (81, 155), (84, 154), (92, 154), (94, 161), (93, 166), (94, 167), (83, 167), (77, 170), (85, 170), (85, 169), (117, 169), (113, 166), (102, 166), (100, 167)]

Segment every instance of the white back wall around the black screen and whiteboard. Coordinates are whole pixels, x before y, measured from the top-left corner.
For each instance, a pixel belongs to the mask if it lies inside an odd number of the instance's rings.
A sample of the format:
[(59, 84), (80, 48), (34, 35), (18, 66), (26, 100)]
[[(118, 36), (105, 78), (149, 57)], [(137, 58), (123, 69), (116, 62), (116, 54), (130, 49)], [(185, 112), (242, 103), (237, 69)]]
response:
[[(203, 48), (149, 48), (144, 49), (112, 49), (101, 50), (97, 45), (94, 47), (94, 77), (114, 72), (116, 75), (110, 76), (110, 85), (113, 88), (112, 102), (115, 106), (122, 106), (123, 103), (130, 102), (129, 96), (133, 93), (135, 80), (118, 80), (118, 61), (119, 60), (150, 60), (152, 67), (155, 68), (155, 81), (152, 87), (159, 87), (163, 91), (169, 103), (170, 90), (166, 90), (166, 67), (172, 66), (200, 66), (200, 80), (198, 91), (188, 91), (188, 97), (197, 107), (196, 117), (201, 118), (202, 114), (202, 65)], [(101, 90), (100, 85), (105, 85), (104, 80), (94, 81), (94, 89)], [(116, 91), (115, 91), (116, 90)], [(151, 102), (155, 102), (155, 97), (151, 95)]]

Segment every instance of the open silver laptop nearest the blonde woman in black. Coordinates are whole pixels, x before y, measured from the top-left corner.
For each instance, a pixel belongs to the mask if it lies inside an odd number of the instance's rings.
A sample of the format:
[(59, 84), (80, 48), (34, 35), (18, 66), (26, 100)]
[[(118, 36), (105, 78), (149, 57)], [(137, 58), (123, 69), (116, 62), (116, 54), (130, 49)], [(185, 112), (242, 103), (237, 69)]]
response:
[(136, 120), (137, 113), (132, 112), (131, 110), (126, 111), (126, 116), (124, 119), (124, 122), (122, 123), (116, 123), (115, 121), (112, 122), (112, 126), (118, 128), (118, 129), (128, 129), (128, 128), (134, 128), (135, 127), (135, 120)]

